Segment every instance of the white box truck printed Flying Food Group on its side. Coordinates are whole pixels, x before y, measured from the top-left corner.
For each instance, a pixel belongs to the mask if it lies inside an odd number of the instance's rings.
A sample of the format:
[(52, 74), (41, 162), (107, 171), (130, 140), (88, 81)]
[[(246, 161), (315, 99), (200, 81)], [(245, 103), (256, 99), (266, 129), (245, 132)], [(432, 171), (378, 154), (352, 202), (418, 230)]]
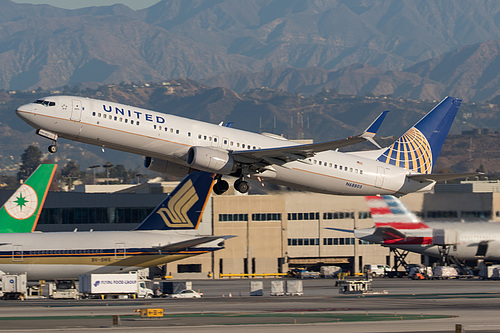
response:
[(137, 273), (82, 274), (79, 291), (84, 298), (151, 298), (153, 291)]

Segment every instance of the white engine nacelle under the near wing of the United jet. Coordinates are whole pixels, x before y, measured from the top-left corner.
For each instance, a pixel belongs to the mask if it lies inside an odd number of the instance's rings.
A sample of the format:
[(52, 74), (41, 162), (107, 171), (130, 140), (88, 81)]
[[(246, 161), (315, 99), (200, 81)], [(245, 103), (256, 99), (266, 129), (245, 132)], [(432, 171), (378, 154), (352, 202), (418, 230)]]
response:
[(233, 156), (227, 150), (211, 147), (189, 148), (186, 162), (193, 169), (222, 175), (232, 173), (235, 166)]

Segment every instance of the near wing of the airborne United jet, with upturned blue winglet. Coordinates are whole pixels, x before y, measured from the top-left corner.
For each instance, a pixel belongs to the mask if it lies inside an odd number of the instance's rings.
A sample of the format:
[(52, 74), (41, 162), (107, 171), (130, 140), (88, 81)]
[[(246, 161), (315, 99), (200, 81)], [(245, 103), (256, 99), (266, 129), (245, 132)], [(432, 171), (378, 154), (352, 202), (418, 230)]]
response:
[(309, 163), (308, 161), (305, 161), (305, 159), (314, 156), (315, 153), (326, 150), (335, 150), (366, 140), (374, 142), (373, 137), (377, 133), (377, 130), (388, 112), (389, 111), (382, 112), (363, 133), (349, 138), (287, 147), (234, 151), (232, 155), (237, 162), (247, 164), (261, 162), (263, 165), (282, 165), (296, 160)]

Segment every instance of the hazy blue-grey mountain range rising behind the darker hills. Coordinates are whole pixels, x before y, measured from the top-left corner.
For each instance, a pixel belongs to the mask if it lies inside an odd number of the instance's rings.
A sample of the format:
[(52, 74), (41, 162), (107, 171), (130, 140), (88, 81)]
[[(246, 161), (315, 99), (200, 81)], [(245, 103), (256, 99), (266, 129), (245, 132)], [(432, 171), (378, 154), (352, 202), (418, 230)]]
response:
[(163, 0), (66, 10), (0, 0), (0, 89), (189, 78), (416, 100), (500, 95), (500, 2)]

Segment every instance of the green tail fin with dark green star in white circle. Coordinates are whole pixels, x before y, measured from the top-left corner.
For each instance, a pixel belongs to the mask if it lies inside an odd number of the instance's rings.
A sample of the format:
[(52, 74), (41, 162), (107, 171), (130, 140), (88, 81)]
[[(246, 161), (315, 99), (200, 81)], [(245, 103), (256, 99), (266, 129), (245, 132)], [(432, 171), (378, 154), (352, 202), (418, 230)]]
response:
[(57, 164), (40, 164), (0, 208), (0, 233), (32, 232), (42, 212)]

